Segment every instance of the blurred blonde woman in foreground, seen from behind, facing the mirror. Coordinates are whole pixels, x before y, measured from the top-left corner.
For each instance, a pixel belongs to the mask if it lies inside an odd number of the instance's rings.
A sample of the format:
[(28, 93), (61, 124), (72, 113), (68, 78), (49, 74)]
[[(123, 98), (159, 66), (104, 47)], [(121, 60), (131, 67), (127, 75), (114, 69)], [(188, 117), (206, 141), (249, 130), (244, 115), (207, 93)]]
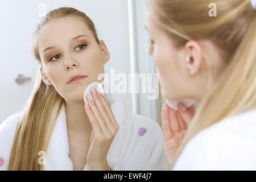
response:
[(170, 169), (256, 170), (256, 1), (149, 0), (146, 29), (163, 96), (200, 103), (162, 107)]

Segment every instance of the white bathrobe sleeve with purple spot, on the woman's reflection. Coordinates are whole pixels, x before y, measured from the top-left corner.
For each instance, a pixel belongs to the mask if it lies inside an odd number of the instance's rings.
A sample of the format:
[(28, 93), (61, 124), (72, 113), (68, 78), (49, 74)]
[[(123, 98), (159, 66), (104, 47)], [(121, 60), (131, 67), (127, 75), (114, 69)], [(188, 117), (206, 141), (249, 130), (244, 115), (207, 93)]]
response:
[(142, 115), (131, 114), (133, 134), (122, 170), (166, 171), (169, 168), (159, 124)]

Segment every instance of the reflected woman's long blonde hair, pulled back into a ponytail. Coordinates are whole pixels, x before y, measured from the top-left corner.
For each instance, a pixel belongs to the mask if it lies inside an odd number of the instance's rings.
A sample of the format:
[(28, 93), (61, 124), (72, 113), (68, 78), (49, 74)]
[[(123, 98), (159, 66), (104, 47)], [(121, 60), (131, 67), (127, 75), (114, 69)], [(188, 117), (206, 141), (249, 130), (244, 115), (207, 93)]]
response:
[[(86, 14), (71, 7), (60, 7), (49, 11), (36, 28), (32, 41), (32, 53), (39, 64), (42, 61), (38, 53), (38, 31), (52, 19), (65, 16), (80, 18), (92, 31), (96, 42), (100, 43), (96, 28)], [(64, 103), (64, 98), (52, 85), (44, 84), (40, 70), (38, 70), (34, 89), (16, 127), (8, 170), (43, 170), (43, 165), (38, 163), (39, 151), (47, 151), (53, 128)]]

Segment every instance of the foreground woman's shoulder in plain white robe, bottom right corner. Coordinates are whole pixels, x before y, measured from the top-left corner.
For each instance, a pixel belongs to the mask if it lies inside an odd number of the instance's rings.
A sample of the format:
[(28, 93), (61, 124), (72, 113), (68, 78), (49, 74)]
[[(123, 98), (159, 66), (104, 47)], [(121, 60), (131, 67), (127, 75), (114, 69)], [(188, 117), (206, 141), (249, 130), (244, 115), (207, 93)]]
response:
[(249, 110), (200, 131), (183, 148), (174, 170), (255, 170), (255, 121), (255, 110)]

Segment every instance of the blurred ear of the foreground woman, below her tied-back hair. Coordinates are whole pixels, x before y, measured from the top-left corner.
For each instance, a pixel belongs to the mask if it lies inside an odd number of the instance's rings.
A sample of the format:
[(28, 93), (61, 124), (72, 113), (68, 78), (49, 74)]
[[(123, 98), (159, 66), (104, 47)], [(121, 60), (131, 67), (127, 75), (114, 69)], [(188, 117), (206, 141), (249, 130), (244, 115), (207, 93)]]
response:
[(200, 72), (200, 68), (203, 67), (205, 63), (203, 50), (201, 49), (199, 43), (194, 40), (189, 40), (185, 44), (186, 55), (186, 66), (188, 68), (190, 75), (195, 75)]

